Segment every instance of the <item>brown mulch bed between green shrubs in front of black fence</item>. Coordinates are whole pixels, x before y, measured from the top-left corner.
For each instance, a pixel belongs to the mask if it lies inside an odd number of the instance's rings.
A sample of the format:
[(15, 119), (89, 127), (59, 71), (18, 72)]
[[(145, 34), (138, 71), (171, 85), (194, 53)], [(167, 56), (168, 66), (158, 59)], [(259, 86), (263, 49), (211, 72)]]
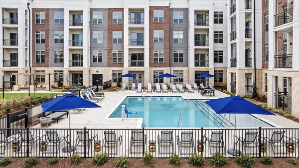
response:
[[(60, 159), (60, 162), (55, 165), (48, 165), (47, 161), (49, 158), (39, 158), (38, 164), (32, 168), (115, 168), (112, 163), (114, 159), (101, 166), (94, 166), (90, 159), (82, 159), (78, 165), (69, 164), (66, 165), (67, 159)], [(298, 160), (298, 159), (297, 159)], [(201, 168), (215, 168), (209, 164), (209, 159), (205, 160), (206, 166)], [(24, 158), (13, 158), (11, 164), (5, 168), (24, 168)], [(118, 168), (118, 167), (117, 167)], [(129, 159), (129, 168), (150, 168), (149, 165), (145, 164), (141, 159)], [(188, 164), (187, 159), (182, 159), (182, 164), (179, 166), (171, 165), (167, 159), (156, 159), (154, 162), (154, 168), (198, 168)], [(229, 159), (229, 163), (221, 168), (242, 168), (235, 163), (235, 159)], [(272, 165), (262, 165), (261, 159), (257, 158), (253, 168), (298, 168), (298, 166), (287, 163), (287, 158), (273, 158)]]

